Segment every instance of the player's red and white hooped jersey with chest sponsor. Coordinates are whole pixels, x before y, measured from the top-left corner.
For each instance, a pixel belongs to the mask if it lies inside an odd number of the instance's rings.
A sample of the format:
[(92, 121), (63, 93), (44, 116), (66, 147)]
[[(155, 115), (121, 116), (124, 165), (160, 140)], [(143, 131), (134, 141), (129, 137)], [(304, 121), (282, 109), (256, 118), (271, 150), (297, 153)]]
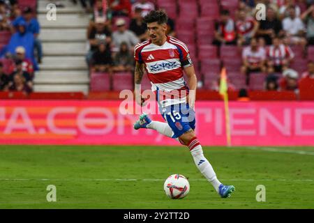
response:
[[(186, 102), (188, 86), (183, 69), (193, 63), (184, 43), (170, 36), (162, 46), (147, 40), (135, 46), (134, 58), (138, 63), (145, 64), (151, 90), (155, 91), (162, 107)], [(167, 95), (172, 95), (172, 98)]]

